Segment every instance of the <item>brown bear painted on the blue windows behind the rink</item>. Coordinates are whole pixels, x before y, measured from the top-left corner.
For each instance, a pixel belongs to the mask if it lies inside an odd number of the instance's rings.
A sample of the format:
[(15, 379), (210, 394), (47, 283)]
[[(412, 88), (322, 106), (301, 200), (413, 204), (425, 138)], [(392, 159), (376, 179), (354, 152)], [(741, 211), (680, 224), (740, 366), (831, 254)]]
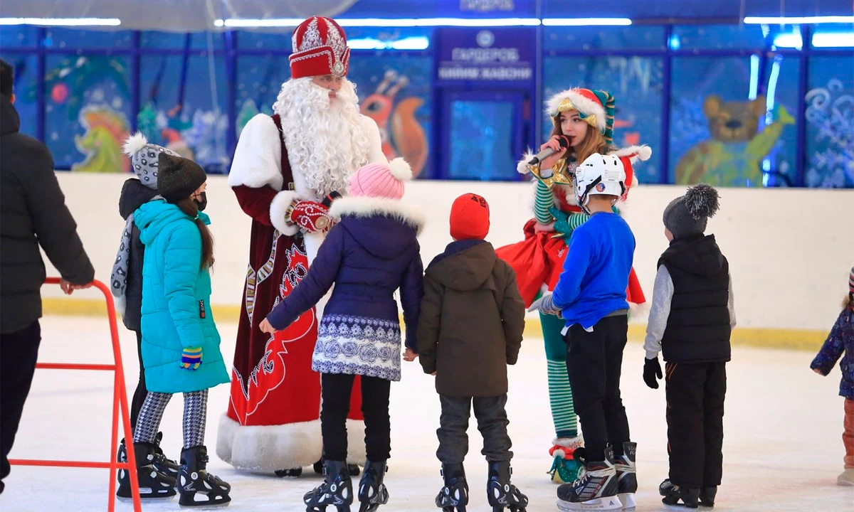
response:
[(681, 155), (676, 164), (676, 183), (762, 185), (762, 160), (775, 147), (785, 127), (795, 122), (785, 107), (778, 106), (776, 120), (759, 131), (765, 103), (764, 96), (747, 102), (724, 102), (720, 96), (706, 96), (703, 113), (709, 138)]

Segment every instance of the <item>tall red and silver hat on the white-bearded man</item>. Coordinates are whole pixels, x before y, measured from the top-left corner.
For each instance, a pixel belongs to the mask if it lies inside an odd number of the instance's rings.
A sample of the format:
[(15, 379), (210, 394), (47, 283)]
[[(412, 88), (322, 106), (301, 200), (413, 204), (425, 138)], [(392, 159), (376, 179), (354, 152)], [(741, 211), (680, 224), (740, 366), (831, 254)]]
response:
[(341, 26), (323, 16), (312, 16), (294, 30), (290, 78), (347, 74), (350, 49)]

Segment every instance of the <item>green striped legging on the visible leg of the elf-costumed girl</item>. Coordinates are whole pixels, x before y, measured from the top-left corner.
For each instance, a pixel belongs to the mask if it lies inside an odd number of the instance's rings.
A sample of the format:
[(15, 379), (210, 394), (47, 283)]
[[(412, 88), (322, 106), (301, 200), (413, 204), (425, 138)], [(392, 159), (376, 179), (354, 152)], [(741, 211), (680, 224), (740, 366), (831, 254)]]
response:
[(554, 315), (540, 315), (542, 337), (546, 340), (548, 365), (548, 396), (552, 403), (552, 419), (556, 437), (573, 438), (578, 435), (578, 416), (572, 401), (570, 378), (566, 373), (566, 342), (560, 331), (564, 320)]

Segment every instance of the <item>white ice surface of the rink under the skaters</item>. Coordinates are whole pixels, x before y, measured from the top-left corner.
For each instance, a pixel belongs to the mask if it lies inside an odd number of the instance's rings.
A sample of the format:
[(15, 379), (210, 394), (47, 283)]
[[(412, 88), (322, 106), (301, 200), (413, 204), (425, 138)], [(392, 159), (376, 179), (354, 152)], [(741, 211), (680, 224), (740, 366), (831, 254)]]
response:
[[(105, 319), (47, 317), (43, 323), (42, 362), (109, 363)], [(223, 352), (230, 361), (236, 326), (219, 326)], [(127, 389), (136, 386), (136, 340), (120, 328)], [(641, 379), (644, 352), (629, 342), (623, 364), (623, 401), (632, 438), (638, 443), (638, 511), (664, 509), (658, 484), (667, 476), (664, 388), (653, 391)], [(716, 510), (854, 512), (854, 487), (836, 486), (842, 471), (843, 400), (837, 396), (839, 369), (822, 378), (810, 371), (812, 354), (737, 348), (728, 365), (727, 411), (724, 421), (723, 484)], [(477, 362), (472, 362), (477, 364)], [(557, 510), (556, 486), (548, 480), (553, 437), (546, 364), (542, 340), (527, 339), (519, 362), (510, 369), (507, 412), (513, 440), (513, 482), (530, 498), (530, 512)], [(219, 414), (225, 410), (228, 387), (210, 395), (207, 444), (209, 468), (231, 483), (229, 510), (300, 511), (301, 496), (320, 482), (307, 476), (281, 480), (237, 472), (214, 454)], [(169, 405), (161, 424), (167, 455), (181, 448), (182, 400)], [(112, 374), (37, 370), (11, 457), (108, 460)], [(432, 377), (420, 366), (404, 363), (403, 379), (392, 386), (392, 458), (389, 461), (391, 500), (380, 510), (437, 510), (433, 499), (441, 485), (436, 461), (439, 400)], [(481, 438), (472, 418), (466, 472), (472, 512), (490, 510), (486, 503), (486, 463), (479, 453)], [(3, 512), (70, 512), (105, 510), (106, 469), (32, 468), (14, 466), (0, 495)], [(144, 510), (178, 510), (177, 500), (144, 503)], [(132, 510), (128, 503), (116, 510)], [(354, 506), (354, 510), (358, 507)]]

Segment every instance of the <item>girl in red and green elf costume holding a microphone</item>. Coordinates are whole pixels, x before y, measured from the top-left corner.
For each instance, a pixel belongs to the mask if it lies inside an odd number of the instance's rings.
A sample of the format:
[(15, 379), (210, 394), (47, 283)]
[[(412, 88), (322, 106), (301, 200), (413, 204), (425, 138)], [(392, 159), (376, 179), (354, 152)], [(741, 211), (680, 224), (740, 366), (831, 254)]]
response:
[[(534, 218), (524, 227), (524, 241), (501, 247), (496, 251), (516, 271), (519, 292), (525, 305), (531, 305), (543, 291), (551, 291), (558, 282), (564, 266), (567, 244), (572, 231), (589, 216), (576, 206), (572, 180), (576, 166), (594, 153), (613, 154), (623, 161), (626, 170), (626, 194), (634, 182), (632, 164), (648, 160), (652, 149), (647, 146), (613, 147), (614, 97), (604, 90), (570, 89), (548, 101), (547, 115), (552, 119), (552, 137), (541, 146), (557, 153), (529, 166), (533, 154), (525, 154), (518, 171), (536, 177)], [(560, 137), (570, 144), (561, 151)], [(615, 212), (617, 208), (614, 208)], [(629, 303), (646, 302), (640, 283), (632, 270)], [(582, 447), (578, 435), (578, 419), (572, 402), (572, 390), (566, 371), (566, 344), (561, 330), (564, 321), (553, 315), (540, 315), (542, 335), (546, 340), (548, 393), (552, 404), (555, 439), (549, 454), (554, 457), (549, 473), (552, 480), (565, 483), (576, 480), (581, 464), (572, 453)]]

